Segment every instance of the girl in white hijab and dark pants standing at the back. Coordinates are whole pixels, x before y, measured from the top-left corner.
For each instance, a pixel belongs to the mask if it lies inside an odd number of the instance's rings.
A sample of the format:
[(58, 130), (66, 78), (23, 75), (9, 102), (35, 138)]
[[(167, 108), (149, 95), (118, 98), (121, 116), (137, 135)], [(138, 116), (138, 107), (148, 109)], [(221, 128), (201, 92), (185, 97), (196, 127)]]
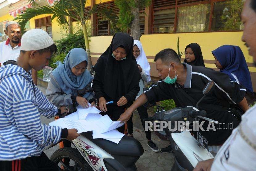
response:
[[(146, 54), (142, 48), (141, 42), (138, 40), (134, 40), (134, 46), (133, 46), (133, 55), (136, 58), (138, 68), (141, 74), (142, 79), (139, 81), (139, 88), (140, 91), (136, 97), (136, 99), (143, 93), (143, 88), (145, 88), (145, 83), (147, 84), (150, 82), (150, 65), (147, 61)], [(138, 107), (138, 113), (141, 119), (142, 126), (145, 130), (145, 122), (143, 121), (144, 118), (148, 117), (147, 108), (145, 106)], [(127, 121), (127, 129), (128, 129), (128, 135), (130, 137), (133, 137), (133, 123), (132, 123), (132, 116)], [(147, 145), (152, 149), (154, 152), (158, 152), (159, 148), (156, 146), (156, 144), (151, 141), (151, 132), (145, 131), (146, 137), (147, 137)]]

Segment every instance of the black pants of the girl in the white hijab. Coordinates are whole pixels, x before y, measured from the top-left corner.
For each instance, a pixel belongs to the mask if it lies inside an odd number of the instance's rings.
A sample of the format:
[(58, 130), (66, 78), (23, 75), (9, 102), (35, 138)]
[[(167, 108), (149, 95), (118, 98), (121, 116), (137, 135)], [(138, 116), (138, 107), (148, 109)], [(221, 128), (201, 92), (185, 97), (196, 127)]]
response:
[[(139, 113), (139, 117), (140, 117), (140, 120), (141, 120), (143, 129), (144, 129), (144, 131), (145, 131), (146, 137), (147, 137), (148, 140), (151, 140), (151, 132), (150, 132), (149, 130), (148, 130), (148, 131), (145, 130), (146, 124), (145, 124), (145, 122), (143, 121), (144, 118), (148, 117), (147, 108), (142, 105), (142, 106), (138, 107), (137, 110), (138, 110), (138, 113)], [(129, 134), (132, 134), (132, 133), (133, 133), (132, 117), (133, 117), (133, 114), (132, 114), (132, 116), (130, 117), (130, 119), (127, 121), (127, 129), (128, 129), (128, 133), (129, 133)]]

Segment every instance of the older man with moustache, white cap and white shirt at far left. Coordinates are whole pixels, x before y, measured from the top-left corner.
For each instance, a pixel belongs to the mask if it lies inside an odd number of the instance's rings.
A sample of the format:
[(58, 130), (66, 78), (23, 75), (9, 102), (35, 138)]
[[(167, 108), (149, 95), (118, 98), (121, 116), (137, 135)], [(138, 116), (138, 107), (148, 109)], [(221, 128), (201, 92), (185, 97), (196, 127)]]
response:
[[(5, 25), (4, 33), (8, 36), (7, 41), (0, 43), (0, 66), (6, 64), (8, 60), (16, 61), (20, 53), (21, 29), (17, 22), (10, 21)], [(31, 70), (32, 79), (37, 84), (37, 71)]]

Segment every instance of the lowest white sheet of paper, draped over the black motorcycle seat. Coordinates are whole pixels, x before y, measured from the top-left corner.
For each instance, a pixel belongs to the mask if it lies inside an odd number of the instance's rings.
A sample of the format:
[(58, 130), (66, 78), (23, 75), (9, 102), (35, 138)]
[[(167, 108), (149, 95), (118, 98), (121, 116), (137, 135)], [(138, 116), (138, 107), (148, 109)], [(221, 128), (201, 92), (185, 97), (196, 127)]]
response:
[(93, 130), (93, 139), (95, 138), (104, 138), (106, 140), (112, 141), (114, 143), (119, 143), (119, 141), (122, 139), (122, 137), (125, 134), (120, 133), (118, 130), (114, 129), (111, 131), (108, 131), (106, 133), (99, 133), (96, 130)]

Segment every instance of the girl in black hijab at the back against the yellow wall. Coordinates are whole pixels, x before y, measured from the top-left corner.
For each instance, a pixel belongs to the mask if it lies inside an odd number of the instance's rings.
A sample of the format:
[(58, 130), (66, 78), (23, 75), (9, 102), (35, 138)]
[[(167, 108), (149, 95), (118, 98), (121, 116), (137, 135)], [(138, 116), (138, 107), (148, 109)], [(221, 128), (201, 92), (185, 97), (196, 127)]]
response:
[(205, 66), (201, 48), (197, 43), (191, 43), (185, 48), (184, 62), (193, 66)]

